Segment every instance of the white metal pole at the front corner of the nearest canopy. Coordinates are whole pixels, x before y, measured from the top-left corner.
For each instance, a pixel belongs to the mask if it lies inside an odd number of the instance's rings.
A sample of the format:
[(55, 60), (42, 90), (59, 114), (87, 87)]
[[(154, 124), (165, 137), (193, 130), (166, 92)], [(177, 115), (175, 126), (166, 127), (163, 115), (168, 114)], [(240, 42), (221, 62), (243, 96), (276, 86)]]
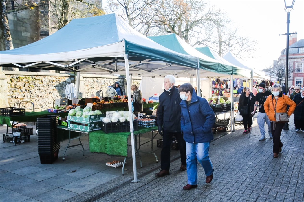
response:
[(131, 133), (131, 147), (132, 147), (132, 160), (133, 160), (133, 175), (134, 180), (131, 182), (139, 182), (137, 180), (137, 170), (136, 170), (136, 154), (135, 154), (135, 144), (134, 144), (134, 126), (133, 126), (133, 113), (132, 113), (132, 102), (131, 102), (131, 86), (130, 86), (130, 72), (129, 72), (129, 56), (125, 54), (125, 67), (126, 67), (126, 79), (127, 79), (127, 92), (128, 92), (128, 109), (130, 116), (130, 133)]

